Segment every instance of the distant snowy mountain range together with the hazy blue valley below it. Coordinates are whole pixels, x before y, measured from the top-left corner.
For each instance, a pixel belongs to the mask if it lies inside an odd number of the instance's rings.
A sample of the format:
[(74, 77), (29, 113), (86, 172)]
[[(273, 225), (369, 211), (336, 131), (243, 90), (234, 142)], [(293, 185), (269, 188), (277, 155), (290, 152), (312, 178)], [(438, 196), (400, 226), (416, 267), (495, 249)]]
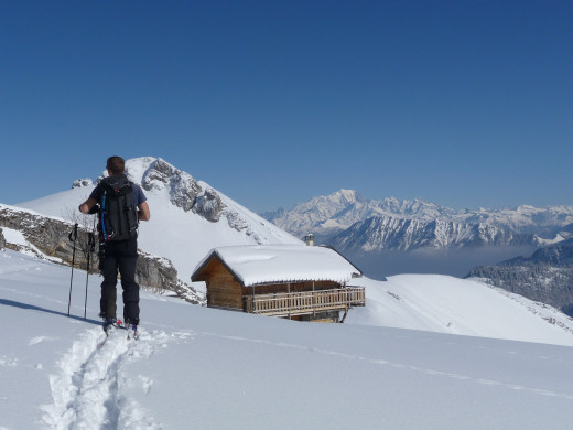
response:
[(456, 211), (422, 200), (368, 200), (352, 190), (264, 214), (296, 237), (314, 233), (374, 277), (464, 276), (477, 265), (532, 252), (572, 235), (573, 206)]

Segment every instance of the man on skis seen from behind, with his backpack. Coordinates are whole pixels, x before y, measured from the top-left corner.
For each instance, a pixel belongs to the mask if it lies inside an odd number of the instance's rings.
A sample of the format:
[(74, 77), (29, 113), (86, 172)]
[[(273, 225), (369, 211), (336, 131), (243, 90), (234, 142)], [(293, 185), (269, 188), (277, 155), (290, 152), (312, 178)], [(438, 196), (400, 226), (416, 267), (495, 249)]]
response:
[(149, 221), (150, 211), (141, 187), (128, 180), (121, 157), (107, 160), (108, 178), (99, 182), (89, 198), (79, 205), (84, 214), (99, 213), (99, 268), (104, 275), (99, 316), (104, 331), (120, 323), (116, 315), (117, 272), (123, 289), (123, 321), (128, 336), (137, 337), (139, 324), (139, 286), (136, 282), (139, 221)]

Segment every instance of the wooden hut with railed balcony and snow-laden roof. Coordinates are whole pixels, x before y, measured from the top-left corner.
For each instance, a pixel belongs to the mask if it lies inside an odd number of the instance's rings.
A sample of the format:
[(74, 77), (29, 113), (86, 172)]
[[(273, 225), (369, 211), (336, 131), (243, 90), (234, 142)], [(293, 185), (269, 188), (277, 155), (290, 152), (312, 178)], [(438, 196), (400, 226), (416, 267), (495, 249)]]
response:
[(347, 287), (361, 275), (329, 247), (251, 245), (213, 249), (192, 281), (206, 282), (209, 308), (344, 322), (350, 307), (365, 305), (364, 288)]

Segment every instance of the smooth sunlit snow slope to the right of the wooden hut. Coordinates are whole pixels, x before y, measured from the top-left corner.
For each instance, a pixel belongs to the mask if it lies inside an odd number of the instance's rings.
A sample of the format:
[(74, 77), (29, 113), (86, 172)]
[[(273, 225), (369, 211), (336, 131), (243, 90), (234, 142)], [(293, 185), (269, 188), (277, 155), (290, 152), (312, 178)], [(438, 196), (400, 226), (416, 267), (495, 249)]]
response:
[(428, 330), (573, 346), (573, 320), (543, 303), (475, 279), (399, 275), (387, 282), (368, 278), (366, 307), (348, 313), (349, 324)]

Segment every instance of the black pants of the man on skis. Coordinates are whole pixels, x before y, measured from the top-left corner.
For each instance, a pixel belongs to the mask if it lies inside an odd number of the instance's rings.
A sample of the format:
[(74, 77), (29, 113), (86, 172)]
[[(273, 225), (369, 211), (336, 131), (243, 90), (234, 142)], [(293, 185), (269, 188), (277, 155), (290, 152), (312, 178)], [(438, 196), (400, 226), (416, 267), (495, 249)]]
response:
[[(101, 258), (101, 257), (100, 257)], [(105, 245), (101, 265), (101, 314), (107, 318), (116, 315), (116, 286), (118, 269), (123, 289), (123, 321), (139, 324), (139, 286), (136, 282), (136, 261), (138, 259), (138, 238), (136, 236), (120, 241), (109, 241)]]

